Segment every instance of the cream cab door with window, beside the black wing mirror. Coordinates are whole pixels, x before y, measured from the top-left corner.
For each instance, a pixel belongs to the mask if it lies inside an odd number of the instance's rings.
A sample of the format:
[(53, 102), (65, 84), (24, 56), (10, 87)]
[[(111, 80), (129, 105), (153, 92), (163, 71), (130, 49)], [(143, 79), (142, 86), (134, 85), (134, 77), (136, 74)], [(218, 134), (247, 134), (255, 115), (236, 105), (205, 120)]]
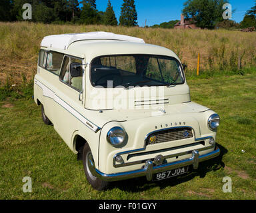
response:
[(70, 71), (71, 63), (83, 65), (83, 59), (65, 56), (59, 75), (59, 90), (56, 93), (59, 110), (57, 110), (57, 125), (55, 130), (68, 144), (71, 142), (73, 132), (77, 130), (79, 122), (77, 114), (83, 110), (84, 71), (79, 69), (79, 75), (72, 76)]

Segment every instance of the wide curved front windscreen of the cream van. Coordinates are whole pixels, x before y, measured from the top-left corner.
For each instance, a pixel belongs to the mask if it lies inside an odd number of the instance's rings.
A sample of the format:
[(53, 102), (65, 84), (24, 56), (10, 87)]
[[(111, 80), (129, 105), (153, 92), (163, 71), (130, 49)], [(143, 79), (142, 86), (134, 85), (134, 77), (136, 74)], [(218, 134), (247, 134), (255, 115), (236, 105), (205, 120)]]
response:
[(143, 87), (184, 83), (181, 64), (173, 57), (114, 55), (91, 63), (91, 83), (101, 87)]

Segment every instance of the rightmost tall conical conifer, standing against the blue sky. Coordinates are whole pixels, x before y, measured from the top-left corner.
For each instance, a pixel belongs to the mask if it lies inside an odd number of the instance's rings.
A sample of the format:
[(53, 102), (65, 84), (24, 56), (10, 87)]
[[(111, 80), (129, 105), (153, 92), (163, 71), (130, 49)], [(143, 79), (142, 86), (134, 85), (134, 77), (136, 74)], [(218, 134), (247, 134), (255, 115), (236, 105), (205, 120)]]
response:
[(126, 27), (137, 26), (137, 11), (134, 0), (123, 0), (119, 24)]

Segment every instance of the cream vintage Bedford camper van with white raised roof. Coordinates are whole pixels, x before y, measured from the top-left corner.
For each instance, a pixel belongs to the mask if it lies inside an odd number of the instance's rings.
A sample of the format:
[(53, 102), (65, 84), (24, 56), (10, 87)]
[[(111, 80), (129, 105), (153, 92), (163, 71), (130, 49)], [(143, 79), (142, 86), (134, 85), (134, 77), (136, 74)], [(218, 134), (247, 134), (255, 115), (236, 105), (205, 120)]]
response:
[(220, 153), (218, 114), (191, 101), (177, 55), (143, 39), (44, 37), (34, 99), (97, 190), (139, 176), (181, 175)]

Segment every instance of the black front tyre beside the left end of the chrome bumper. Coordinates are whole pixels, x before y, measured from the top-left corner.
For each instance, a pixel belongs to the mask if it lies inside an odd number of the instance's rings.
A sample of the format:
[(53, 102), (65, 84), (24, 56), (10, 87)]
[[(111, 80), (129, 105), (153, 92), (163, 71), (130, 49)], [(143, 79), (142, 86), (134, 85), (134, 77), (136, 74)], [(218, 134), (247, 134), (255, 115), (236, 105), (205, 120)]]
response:
[(83, 146), (83, 168), (85, 170), (85, 176), (87, 177), (89, 184), (91, 184), (95, 190), (101, 191), (107, 189), (109, 182), (101, 180), (91, 173), (91, 170), (89, 169), (89, 158), (93, 159), (93, 156), (89, 145), (86, 143), (85, 146)]

